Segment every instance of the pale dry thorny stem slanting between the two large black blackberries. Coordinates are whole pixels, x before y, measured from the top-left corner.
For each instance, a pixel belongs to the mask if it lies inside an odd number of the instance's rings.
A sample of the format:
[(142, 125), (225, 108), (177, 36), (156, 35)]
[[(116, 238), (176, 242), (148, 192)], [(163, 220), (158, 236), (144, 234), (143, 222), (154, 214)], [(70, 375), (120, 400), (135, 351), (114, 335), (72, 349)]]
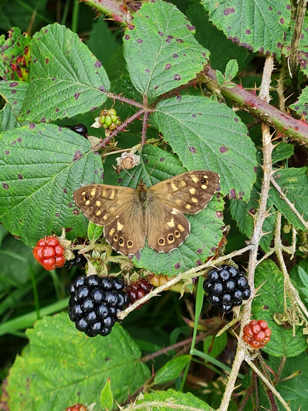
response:
[(247, 247), (244, 247), (240, 250), (236, 250), (236, 251), (234, 251), (230, 254), (227, 254), (226, 256), (219, 257), (216, 260), (207, 261), (207, 263), (202, 264), (202, 266), (194, 267), (194, 268), (191, 268), (190, 270), (187, 270), (186, 272), (179, 273), (179, 275), (177, 277), (172, 278), (170, 281), (166, 282), (165, 284), (163, 284), (159, 287), (156, 287), (149, 294), (147, 294), (143, 298), (140, 298), (140, 300), (137, 300), (136, 302), (134, 302), (132, 305), (130, 305), (124, 311), (119, 312), (119, 314), (117, 314), (118, 318), (120, 320), (123, 320), (131, 311), (136, 309), (140, 304), (144, 304), (145, 302), (147, 302), (147, 300), (149, 300), (150, 298), (152, 298), (154, 296), (157, 296), (158, 294), (160, 294), (165, 289), (174, 286), (175, 284), (177, 284), (178, 282), (180, 282), (182, 280), (192, 278), (192, 277), (198, 277), (199, 275), (203, 274), (202, 271), (205, 268), (219, 265), (219, 264), (223, 263), (223, 261), (232, 259), (234, 256), (244, 254), (244, 252), (250, 250), (251, 247), (252, 247), (251, 245), (248, 245)]

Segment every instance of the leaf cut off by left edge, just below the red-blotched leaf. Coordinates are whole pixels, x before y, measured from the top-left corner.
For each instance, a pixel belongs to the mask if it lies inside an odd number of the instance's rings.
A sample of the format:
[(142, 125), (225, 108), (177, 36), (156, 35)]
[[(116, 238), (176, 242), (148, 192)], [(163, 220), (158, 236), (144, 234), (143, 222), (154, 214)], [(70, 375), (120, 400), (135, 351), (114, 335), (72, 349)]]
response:
[(24, 81), (0, 81), (0, 95), (7, 102), (2, 111), (0, 111), (2, 113), (0, 132), (21, 127), (21, 124), (17, 122), (17, 116), (28, 86), (29, 84)]

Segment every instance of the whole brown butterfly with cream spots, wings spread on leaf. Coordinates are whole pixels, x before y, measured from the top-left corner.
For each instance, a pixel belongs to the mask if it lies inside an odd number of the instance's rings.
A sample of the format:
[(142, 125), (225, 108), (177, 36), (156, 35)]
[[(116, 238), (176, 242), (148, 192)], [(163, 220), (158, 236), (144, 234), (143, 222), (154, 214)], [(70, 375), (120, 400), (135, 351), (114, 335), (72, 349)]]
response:
[(106, 241), (120, 254), (138, 253), (147, 245), (171, 252), (183, 244), (191, 227), (186, 214), (203, 210), (219, 187), (214, 171), (188, 171), (137, 189), (107, 184), (78, 188), (73, 198), (94, 224), (104, 226)]

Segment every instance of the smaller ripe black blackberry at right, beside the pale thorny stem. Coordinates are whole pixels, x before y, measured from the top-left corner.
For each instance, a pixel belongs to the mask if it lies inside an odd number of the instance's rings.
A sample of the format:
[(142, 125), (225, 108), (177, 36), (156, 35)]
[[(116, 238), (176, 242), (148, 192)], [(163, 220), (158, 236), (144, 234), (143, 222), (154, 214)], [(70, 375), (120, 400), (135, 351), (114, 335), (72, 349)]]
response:
[(238, 307), (251, 295), (244, 274), (226, 264), (209, 270), (207, 279), (203, 282), (203, 289), (209, 293), (209, 303), (224, 313), (232, 311), (233, 307)]

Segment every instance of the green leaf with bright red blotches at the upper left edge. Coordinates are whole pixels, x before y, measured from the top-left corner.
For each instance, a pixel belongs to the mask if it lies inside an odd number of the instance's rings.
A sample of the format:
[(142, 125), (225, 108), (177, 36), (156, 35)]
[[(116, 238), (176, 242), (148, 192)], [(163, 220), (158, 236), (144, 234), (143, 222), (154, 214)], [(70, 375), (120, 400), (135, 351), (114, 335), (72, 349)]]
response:
[[(1, 10), (1, 17), (4, 17), (3, 9)], [(5, 37), (4, 34), (0, 36), (0, 77), (10, 82), (12, 80), (28, 80), (30, 37), (27, 33), (22, 34), (18, 27), (12, 27), (9, 30), (7, 39)], [(9, 70), (8, 65), (10, 67)]]

